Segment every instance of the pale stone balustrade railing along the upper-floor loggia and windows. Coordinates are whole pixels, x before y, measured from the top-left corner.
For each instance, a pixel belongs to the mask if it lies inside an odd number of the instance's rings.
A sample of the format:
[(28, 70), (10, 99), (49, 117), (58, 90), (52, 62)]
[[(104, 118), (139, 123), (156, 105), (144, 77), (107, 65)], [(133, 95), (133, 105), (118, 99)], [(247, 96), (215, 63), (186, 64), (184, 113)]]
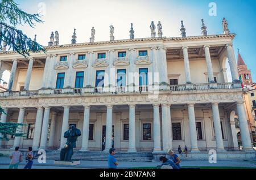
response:
[[(36, 95), (61, 95), (61, 94), (84, 94), (84, 93), (142, 93), (155, 91), (204, 91), (210, 89), (209, 84), (193, 84), (193, 89), (187, 89), (185, 84), (179, 85), (130, 85), (123, 87), (89, 87), (89, 88), (64, 88), (64, 89), (40, 89), (38, 91), (10, 91), (0, 92), (4, 96), (36, 96)], [(233, 83), (217, 83), (217, 89), (233, 89)]]

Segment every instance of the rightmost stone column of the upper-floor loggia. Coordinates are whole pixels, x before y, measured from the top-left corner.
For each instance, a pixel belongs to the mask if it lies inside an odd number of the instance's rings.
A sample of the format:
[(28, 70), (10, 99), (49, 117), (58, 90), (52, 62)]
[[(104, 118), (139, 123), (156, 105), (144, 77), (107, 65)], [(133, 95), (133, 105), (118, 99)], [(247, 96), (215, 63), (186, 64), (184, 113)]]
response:
[(240, 88), (241, 88), (241, 82), (239, 80), (238, 72), (237, 72), (237, 62), (234, 54), (234, 49), (232, 44), (227, 44), (226, 45), (226, 50), (228, 53), (228, 59), (229, 59), (229, 66), (230, 66), (230, 71), (231, 71), (231, 76), (232, 76), (232, 82), (233, 83), (240, 83)]

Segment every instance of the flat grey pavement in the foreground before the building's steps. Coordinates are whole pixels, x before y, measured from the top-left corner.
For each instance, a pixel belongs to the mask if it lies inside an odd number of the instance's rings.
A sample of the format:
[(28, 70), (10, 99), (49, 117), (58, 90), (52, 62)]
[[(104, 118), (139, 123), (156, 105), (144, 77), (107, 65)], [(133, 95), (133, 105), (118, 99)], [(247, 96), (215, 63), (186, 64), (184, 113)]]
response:
[[(9, 168), (10, 158), (0, 157), (0, 169)], [(118, 168), (139, 168), (139, 167), (154, 167), (160, 165), (160, 162), (119, 162)], [(19, 169), (22, 169), (26, 165), (23, 161), (19, 165)], [(210, 164), (205, 160), (182, 160), (181, 166), (226, 166), (226, 167), (243, 167), (243, 168), (256, 168), (256, 159), (238, 161), (238, 160), (217, 160), (216, 164)], [(107, 161), (81, 161), (77, 166), (57, 166), (54, 165), (53, 160), (47, 160), (46, 164), (39, 164), (38, 160), (34, 160), (34, 169), (63, 169), (63, 168), (108, 168)]]

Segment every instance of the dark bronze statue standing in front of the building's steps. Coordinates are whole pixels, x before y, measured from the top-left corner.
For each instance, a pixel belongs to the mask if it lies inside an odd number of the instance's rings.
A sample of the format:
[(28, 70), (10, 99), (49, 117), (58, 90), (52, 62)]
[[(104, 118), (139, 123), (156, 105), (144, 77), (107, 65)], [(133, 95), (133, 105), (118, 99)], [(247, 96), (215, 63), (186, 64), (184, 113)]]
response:
[(77, 137), (81, 136), (81, 131), (74, 125), (69, 127), (69, 130), (64, 133), (64, 138), (67, 138), (64, 148), (60, 151), (60, 161), (71, 161), (73, 148), (76, 147)]

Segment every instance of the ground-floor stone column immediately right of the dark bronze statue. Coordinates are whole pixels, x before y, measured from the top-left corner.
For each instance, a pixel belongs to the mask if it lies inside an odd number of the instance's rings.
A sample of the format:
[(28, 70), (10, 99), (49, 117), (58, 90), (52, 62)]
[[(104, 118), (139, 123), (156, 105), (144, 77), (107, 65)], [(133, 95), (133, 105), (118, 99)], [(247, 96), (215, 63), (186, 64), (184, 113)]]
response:
[(90, 126), (90, 106), (84, 106), (84, 123), (82, 125), (82, 148), (80, 151), (89, 151), (89, 126)]

